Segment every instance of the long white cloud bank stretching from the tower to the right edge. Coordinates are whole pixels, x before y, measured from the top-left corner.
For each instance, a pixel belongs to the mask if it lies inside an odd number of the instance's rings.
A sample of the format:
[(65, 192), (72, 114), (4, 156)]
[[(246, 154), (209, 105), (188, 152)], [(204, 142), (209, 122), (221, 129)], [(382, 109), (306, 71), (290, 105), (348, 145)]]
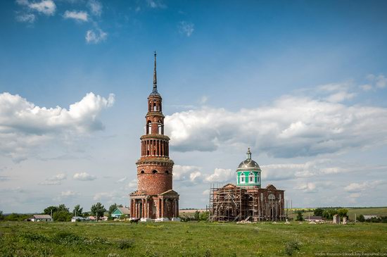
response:
[(387, 108), (305, 96), (283, 96), (270, 106), (235, 112), (208, 107), (182, 111), (167, 116), (165, 125), (176, 151), (251, 146), (269, 156), (291, 158), (387, 142)]

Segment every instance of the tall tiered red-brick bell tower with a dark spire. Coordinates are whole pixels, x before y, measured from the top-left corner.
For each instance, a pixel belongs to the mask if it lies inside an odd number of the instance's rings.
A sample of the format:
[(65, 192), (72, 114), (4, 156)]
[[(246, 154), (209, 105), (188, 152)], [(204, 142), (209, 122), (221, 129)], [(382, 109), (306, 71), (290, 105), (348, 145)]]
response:
[(168, 220), (179, 215), (179, 194), (172, 190), (173, 161), (170, 138), (164, 134), (162, 98), (157, 91), (156, 51), (153, 90), (148, 96), (141, 158), (137, 161), (137, 191), (130, 194), (130, 216), (141, 220)]

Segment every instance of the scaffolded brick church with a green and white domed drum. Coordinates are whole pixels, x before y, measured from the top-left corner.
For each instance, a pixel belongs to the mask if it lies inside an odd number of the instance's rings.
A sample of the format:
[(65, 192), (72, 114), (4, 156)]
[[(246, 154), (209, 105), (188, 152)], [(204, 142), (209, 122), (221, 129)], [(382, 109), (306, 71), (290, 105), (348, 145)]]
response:
[(272, 184), (262, 188), (261, 172), (248, 149), (236, 169), (236, 184), (211, 187), (210, 220), (284, 220), (284, 190)]

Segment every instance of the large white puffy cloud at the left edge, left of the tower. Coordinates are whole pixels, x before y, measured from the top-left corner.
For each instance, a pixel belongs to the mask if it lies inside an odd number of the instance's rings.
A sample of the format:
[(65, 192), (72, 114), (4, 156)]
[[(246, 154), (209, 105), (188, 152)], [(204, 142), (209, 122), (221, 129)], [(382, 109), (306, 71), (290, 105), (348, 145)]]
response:
[(36, 155), (39, 146), (65, 137), (103, 130), (99, 114), (114, 104), (114, 94), (107, 99), (89, 93), (68, 109), (39, 107), (18, 94), (0, 94), (0, 153), (20, 162)]

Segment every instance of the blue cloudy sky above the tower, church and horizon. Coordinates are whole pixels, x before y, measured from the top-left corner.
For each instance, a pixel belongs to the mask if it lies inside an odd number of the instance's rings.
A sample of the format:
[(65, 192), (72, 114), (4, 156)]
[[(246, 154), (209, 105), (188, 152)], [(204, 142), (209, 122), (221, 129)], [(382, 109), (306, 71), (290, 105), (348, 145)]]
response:
[(128, 203), (155, 50), (182, 208), (234, 182), (247, 147), (295, 206), (386, 206), (386, 11), (1, 1), (0, 210)]

